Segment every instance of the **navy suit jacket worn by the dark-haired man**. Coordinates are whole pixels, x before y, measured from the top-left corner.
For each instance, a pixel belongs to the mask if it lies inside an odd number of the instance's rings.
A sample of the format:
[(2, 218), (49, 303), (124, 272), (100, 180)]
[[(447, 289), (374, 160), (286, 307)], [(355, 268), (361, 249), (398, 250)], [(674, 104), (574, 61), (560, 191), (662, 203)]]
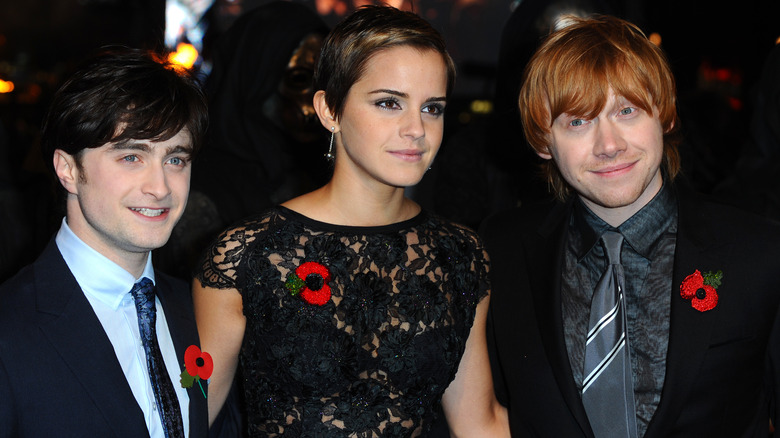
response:
[[(199, 345), (189, 288), (155, 278), (183, 364), (184, 350)], [(188, 393), (190, 436), (205, 437), (206, 400), (197, 385)], [(0, 436), (148, 435), (111, 341), (52, 239), (0, 286)]]

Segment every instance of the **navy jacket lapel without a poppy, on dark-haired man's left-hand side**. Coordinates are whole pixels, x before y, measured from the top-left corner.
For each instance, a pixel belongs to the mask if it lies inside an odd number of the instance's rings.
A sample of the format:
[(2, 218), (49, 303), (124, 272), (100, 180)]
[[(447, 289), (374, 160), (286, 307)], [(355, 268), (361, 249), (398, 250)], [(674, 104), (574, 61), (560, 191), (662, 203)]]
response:
[(92, 306), (52, 240), (35, 264), (41, 330), (116, 436), (148, 434), (141, 408)]

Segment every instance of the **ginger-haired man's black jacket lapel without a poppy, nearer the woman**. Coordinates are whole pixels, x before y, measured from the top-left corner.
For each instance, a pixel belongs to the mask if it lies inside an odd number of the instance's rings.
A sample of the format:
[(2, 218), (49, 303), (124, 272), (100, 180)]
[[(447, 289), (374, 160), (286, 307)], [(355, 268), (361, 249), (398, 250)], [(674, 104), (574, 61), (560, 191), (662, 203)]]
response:
[(571, 216), (572, 201), (556, 205), (538, 230), (524, 235), (531, 289), (539, 323), (539, 333), (558, 382), (563, 399), (569, 406), (583, 434), (592, 437), (585, 408), (582, 405), (577, 386), (572, 378), (569, 353), (563, 334), (561, 308), (561, 268), (568, 233), (568, 218)]

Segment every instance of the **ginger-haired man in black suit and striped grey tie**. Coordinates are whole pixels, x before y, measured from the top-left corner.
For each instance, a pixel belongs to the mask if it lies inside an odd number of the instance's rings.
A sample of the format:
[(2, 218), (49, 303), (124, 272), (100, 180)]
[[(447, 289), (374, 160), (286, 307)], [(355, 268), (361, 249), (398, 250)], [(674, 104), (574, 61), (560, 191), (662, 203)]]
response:
[(660, 48), (618, 18), (567, 17), (519, 109), (557, 200), (482, 225), (513, 436), (765, 438), (780, 418), (780, 227), (675, 178)]

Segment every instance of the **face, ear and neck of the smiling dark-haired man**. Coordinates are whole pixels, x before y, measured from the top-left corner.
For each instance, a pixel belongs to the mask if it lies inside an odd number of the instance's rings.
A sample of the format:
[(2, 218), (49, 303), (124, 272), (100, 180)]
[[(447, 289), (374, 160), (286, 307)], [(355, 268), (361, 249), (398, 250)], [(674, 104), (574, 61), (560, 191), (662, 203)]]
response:
[(68, 226), (84, 243), (141, 275), (149, 251), (163, 246), (181, 218), (190, 187), (192, 144), (185, 129), (166, 141), (107, 143), (52, 158), (68, 192)]

